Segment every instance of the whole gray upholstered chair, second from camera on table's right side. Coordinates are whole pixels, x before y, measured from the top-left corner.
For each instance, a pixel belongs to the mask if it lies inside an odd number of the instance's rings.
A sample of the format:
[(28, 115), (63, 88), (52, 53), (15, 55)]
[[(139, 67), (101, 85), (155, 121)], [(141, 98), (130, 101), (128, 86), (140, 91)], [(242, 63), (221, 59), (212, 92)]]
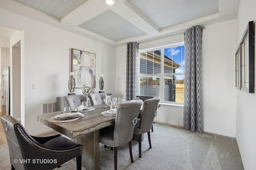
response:
[(143, 102), (142, 111), (140, 115), (140, 119), (134, 128), (134, 134), (140, 135), (139, 137), (139, 157), (141, 158), (141, 140), (142, 134), (148, 133), (148, 142), (149, 147), (151, 147), (151, 140), (150, 140), (150, 129), (152, 127), (152, 123), (156, 116), (156, 110), (158, 108), (158, 104), (160, 102), (160, 98), (151, 98), (145, 100)]

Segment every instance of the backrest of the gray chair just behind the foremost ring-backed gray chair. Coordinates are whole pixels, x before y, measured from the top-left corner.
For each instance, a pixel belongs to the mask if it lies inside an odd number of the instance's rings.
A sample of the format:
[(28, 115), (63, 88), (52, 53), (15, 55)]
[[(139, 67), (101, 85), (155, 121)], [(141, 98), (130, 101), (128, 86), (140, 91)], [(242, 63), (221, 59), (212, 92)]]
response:
[(155, 118), (155, 111), (158, 108), (160, 98), (151, 98), (143, 102), (142, 111), (140, 115), (140, 133), (147, 133), (152, 127)]

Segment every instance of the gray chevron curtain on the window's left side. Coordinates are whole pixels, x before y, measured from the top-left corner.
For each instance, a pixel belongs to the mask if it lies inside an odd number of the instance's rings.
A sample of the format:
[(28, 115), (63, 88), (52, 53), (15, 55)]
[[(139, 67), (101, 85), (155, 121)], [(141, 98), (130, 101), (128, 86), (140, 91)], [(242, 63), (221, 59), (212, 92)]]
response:
[(126, 51), (126, 100), (135, 100), (138, 92), (139, 43), (127, 43)]

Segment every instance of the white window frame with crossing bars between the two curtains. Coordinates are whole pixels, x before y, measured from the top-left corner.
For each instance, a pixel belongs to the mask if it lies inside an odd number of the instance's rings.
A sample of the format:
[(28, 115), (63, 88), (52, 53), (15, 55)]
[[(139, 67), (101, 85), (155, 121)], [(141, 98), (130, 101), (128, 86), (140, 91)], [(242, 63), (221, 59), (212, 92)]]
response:
[[(158, 47), (151, 47), (151, 48), (147, 48), (147, 49), (140, 49), (138, 51), (138, 58), (139, 58), (139, 64), (138, 64), (138, 76), (139, 76), (139, 80), (141, 77), (145, 77), (145, 76), (158, 76), (159, 77), (159, 81), (160, 81), (160, 92), (159, 92), (159, 97), (160, 97), (160, 101), (162, 104), (170, 104), (170, 105), (176, 105), (176, 106), (183, 106), (184, 103), (180, 103), (180, 102), (168, 102), (168, 101), (164, 101), (164, 84), (165, 84), (165, 76), (173, 76), (173, 75), (184, 75), (185, 73), (165, 73), (164, 74), (164, 49), (166, 48), (172, 48), (172, 47), (178, 47), (178, 46), (183, 46), (184, 41), (179, 42), (179, 43), (172, 43), (172, 44), (168, 44), (168, 45), (162, 45), (162, 46), (158, 46)], [(161, 50), (161, 64), (160, 64), (160, 74), (140, 74), (140, 53), (145, 53), (148, 51), (156, 51), (156, 50)], [(185, 54), (184, 54), (185, 55)], [(185, 58), (184, 58), (185, 60)], [(185, 70), (184, 70), (185, 72)], [(140, 82), (140, 81), (139, 81)], [(140, 94), (140, 84), (138, 84), (138, 95)]]

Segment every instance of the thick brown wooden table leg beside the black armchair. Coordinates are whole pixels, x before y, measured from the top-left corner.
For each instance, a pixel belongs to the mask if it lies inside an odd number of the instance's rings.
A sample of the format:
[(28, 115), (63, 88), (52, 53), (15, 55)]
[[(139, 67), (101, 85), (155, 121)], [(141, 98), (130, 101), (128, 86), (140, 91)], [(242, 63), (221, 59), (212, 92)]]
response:
[(100, 169), (100, 131), (94, 131), (73, 139), (83, 146), (82, 166), (86, 170)]

